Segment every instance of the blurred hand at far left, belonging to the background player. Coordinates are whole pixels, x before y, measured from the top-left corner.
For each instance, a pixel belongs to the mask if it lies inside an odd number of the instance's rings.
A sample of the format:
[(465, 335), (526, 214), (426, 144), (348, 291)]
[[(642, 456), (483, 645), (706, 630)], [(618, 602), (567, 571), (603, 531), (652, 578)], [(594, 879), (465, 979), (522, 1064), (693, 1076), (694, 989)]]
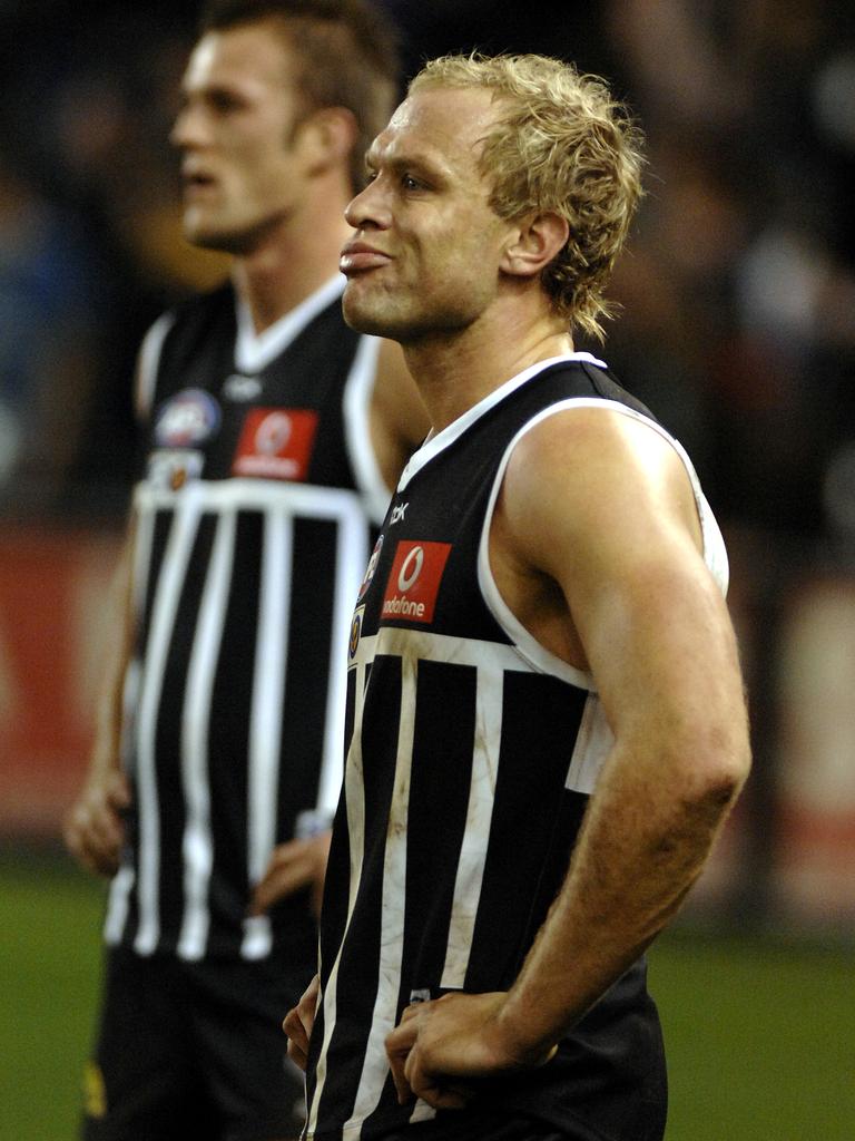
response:
[(68, 851), (99, 875), (115, 875), (124, 843), (122, 812), (131, 802), (123, 772), (111, 769), (90, 779), (65, 817), (63, 836)]

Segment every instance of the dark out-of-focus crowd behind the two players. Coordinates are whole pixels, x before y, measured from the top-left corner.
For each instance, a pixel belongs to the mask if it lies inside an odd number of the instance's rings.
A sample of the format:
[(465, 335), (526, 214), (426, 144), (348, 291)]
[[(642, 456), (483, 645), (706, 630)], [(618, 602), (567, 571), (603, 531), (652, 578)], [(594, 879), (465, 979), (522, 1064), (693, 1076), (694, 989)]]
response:
[[(405, 72), (539, 51), (649, 143), (602, 356), (685, 444), (726, 532), (771, 760), (789, 585), (855, 572), (855, 8), (822, 0), (384, 0)], [(196, 6), (0, 0), (0, 513), (119, 524), (154, 318), (226, 265), (180, 236), (169, 144)], [(763, 865), (763, 828), (755, 863)]]

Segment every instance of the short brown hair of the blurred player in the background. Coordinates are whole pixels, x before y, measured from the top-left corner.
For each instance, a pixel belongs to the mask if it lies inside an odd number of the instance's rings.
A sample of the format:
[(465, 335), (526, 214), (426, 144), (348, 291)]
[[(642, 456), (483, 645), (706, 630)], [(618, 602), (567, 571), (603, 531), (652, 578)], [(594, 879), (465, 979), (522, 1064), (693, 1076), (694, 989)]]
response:
[(280, 27), (300, 68), (303, 113), (347, 107), (357, 122), (350, 161), (356, 193), (365, 183), (365, 152), (385, 127), (399, 83), (398, 34), (369, 0), (209, 0), (199, 35), (243, 24)]

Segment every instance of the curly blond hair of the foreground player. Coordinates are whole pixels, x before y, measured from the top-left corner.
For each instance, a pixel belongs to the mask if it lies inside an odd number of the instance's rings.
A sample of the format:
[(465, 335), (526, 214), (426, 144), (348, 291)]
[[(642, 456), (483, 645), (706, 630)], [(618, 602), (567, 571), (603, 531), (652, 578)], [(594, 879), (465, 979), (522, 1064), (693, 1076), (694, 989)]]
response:
[(642, 196), (643, 135), (605, 82), (547, 56), (442, 56), (410, 81), (488, 88), (506, 108), (483, 139), (490, 205), (511, 220), (531, 212), (565, 218), (570, 236), (542, 283), (570, 325), (603, 340), (614, 306), (604, 291)]

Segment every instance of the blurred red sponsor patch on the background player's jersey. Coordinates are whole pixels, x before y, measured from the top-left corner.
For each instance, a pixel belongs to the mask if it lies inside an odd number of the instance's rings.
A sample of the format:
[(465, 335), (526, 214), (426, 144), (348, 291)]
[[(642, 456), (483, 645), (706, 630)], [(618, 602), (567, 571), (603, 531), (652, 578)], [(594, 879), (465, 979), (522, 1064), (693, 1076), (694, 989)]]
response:
[(317, 427), (317, 412), (307, 408), (253, 408), (244, 420), (233, 474), (306, 479)]

